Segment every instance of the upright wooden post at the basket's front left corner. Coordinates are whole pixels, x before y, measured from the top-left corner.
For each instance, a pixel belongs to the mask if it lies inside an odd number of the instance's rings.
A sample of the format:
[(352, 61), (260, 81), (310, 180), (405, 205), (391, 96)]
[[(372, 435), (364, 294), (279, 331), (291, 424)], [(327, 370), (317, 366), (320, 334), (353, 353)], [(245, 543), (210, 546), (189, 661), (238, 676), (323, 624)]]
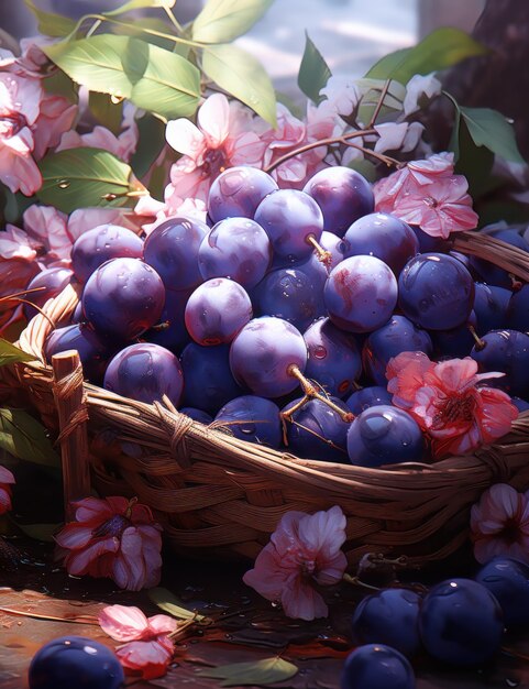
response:
[(71, 501), (90, 494), (88, 411), (82, 391), (82, 365), (76, 350), (52, 357), (53, 396), (58, 413), (65, 518), (73, 518)]

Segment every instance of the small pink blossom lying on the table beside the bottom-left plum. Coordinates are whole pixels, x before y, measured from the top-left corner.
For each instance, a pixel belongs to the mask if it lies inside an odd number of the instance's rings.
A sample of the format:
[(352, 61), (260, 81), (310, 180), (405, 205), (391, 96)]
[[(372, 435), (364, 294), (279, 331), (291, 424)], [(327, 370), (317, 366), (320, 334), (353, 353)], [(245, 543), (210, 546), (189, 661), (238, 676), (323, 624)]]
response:
[(125, 670), (139, 671), (146, 680), (166, 674), (175, 650), (169, 635), (176, 631), (176, 620), (147, 619), (139, 608), (109, 605), (101, 611), (99, 624), (114, 641), (125, 642), (115, 650)]

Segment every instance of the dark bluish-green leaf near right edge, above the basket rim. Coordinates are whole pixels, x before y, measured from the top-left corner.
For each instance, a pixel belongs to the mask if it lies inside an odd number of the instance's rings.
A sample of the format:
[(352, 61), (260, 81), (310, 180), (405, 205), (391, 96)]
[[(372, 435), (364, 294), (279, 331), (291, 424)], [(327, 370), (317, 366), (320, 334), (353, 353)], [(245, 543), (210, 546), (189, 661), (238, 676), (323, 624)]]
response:
[(491, 108), (463, 108), (461, 117), (477, 146), (486, 146), (506, 161), (524, 163), (516, 144), (515, 130), (507, 119)]

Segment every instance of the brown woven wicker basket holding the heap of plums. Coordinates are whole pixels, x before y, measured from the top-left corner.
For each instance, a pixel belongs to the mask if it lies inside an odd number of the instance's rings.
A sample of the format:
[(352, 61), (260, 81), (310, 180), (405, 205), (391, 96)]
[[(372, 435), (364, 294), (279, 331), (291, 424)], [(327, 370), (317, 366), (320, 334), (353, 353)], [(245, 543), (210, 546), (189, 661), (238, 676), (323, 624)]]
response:
[[(453, 249), (478, 255), (529, 282), (527, 254), (486, 236), (460, 233)], [(90, 488), (136, 495), (180, 553), (254, 558), (289, 510), (340, 505), (345, 551), (407, 555), (410, 566), (449, 556), (469, 538), (470, 508), (496, 482), (529, 485), (529, 413), (502, 442), (434, 464), (365, 469), (298, 459), (205, 427), (174, 408), (133, 402), (82, 382), (78, 359), (42, 363), (44, 340), (78, 302), (68, 286), (21, 335), (35, 361), (8, 371), (63, 452), (66, 497)], [(88, 440), (88, 441), (87, 441)], [(89, 471), (88, 471), (89, 468)]]

